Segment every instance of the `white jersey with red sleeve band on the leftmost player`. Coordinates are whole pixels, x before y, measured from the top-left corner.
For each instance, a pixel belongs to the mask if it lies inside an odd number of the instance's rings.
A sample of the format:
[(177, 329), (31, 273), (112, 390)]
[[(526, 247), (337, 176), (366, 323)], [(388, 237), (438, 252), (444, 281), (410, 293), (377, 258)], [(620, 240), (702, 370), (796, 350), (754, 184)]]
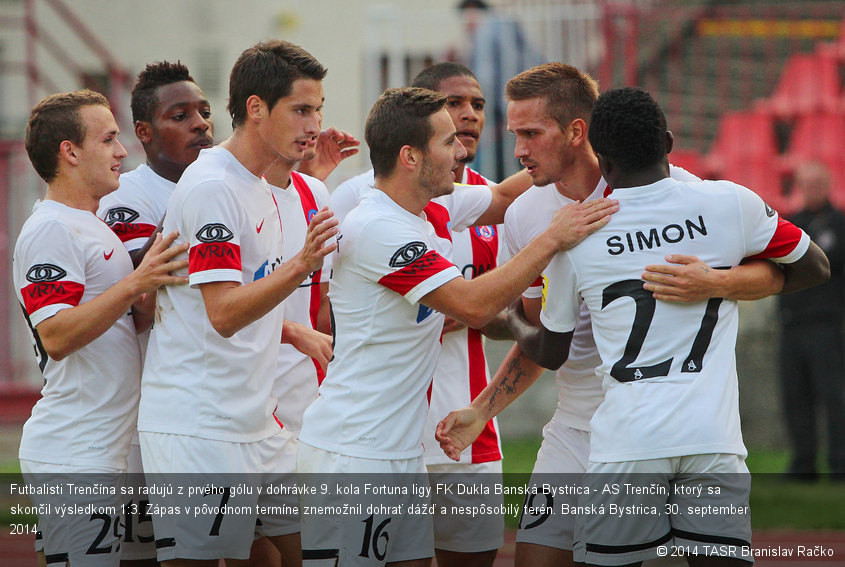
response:
[(126, 468), (141, 378), (131, 313), (59, 361), (47, 355), (35, 329), (131, 272), (120, 239), (90, 211), (45, 200), (24, 223), (15, 244), (13, 279), (45, 382), (23, 427), (21, 459)]

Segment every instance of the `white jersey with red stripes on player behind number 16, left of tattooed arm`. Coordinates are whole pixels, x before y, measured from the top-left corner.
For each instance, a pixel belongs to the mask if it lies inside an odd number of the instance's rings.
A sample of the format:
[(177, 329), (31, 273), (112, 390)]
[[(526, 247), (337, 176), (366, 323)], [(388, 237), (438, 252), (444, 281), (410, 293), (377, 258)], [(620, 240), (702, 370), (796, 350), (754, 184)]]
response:
[[(464, 168), (467, 185), (491, 184), (481, 174)], [(457, 189), (460, 191), (460, 188)], [(495, 268), (503, 255), (500, 226), (473, 226), (452, 231), (454, 263), (466, 279), (472, 279)], [(484, 353), (484, 338), (476, 329), (463, 328), (443, 335), (442, 351), (434, 371), (428, 416), (423, 430), (426, 464), (453, 464), (434, 439), (437, 423), (450, 411), (469, 403), (490, 382), (490, 371)], [(459, 379), (466, 377), (465, 380)], [(485, 463), (502, 458), (501, 440), (496, 419), (491, 419), (478, 438), (461, 453), (461, 463)]]

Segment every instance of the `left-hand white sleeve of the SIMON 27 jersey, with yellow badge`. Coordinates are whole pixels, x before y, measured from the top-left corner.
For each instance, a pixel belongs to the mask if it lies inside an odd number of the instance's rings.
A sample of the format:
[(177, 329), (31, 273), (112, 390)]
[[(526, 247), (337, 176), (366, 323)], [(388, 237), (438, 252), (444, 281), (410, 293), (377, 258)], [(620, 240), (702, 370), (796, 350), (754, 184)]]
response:
[(564, 252), (555, 256), (543, 272), (543, 309), (540, 322), (555, 333), (575, 330), (581, 311), (575, 270)]

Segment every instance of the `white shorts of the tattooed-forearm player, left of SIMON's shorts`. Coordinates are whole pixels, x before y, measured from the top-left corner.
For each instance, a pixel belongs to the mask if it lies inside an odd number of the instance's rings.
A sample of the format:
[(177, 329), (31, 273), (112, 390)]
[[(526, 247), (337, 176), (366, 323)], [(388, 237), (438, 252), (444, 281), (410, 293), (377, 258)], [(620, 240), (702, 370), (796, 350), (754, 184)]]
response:
[(536, 493), (525, 496), (517, 542), (572, 550), (575, 516), (563, 510), (566, 505), (575, 506), (578, 495), (560, 488), (580, 485), (589, 454), (589, 431), (573, 429), (554, 420), (546, 424), (529, 481), (529, 486), (536, 487)]

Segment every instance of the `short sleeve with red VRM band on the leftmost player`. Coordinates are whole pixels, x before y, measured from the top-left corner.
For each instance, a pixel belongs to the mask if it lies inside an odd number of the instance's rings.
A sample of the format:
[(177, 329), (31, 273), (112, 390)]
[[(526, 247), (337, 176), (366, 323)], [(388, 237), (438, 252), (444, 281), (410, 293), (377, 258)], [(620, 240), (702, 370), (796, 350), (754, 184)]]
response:
[(60, 222), (43, 223), (37, 234), (18, 243), (14, 278), (33, 326), (76, 307), (85, 292), (85, 252), (79, 239)]

